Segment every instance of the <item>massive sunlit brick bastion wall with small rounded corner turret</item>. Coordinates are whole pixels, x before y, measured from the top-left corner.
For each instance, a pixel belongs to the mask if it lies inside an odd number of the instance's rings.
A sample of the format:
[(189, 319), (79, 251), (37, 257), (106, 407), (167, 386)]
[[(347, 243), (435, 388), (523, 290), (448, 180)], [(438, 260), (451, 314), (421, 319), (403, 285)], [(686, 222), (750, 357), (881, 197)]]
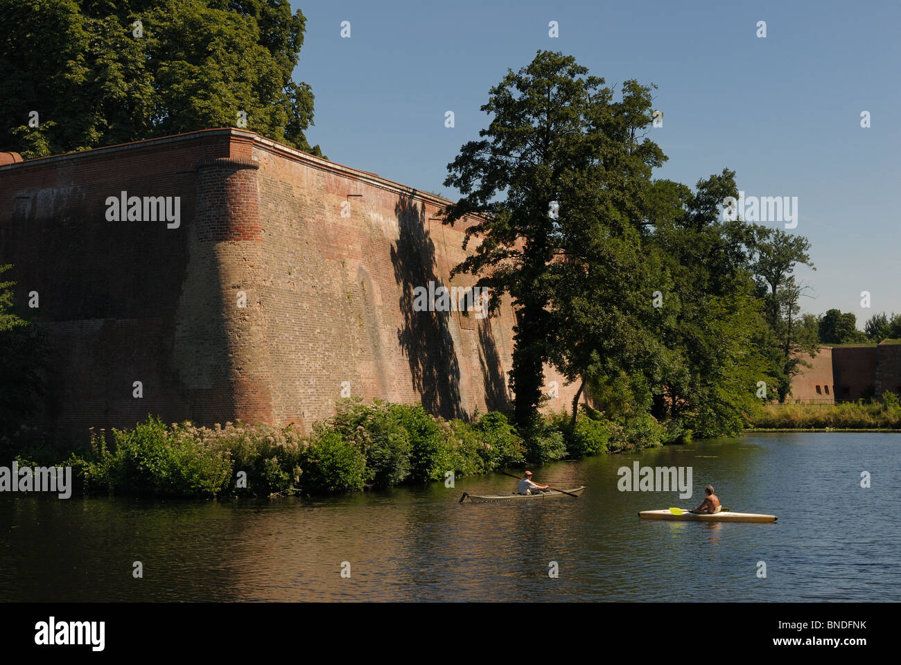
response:
[[(37, 424), (306, 430), (342, 390), (505, 408), (509, 298), (483, 319), (414, 311), (415, 287), (474, 283), (449, 278), (473, 220), (442, 225), (446, 203), (236, 129), (0, 167), (0, 264), (19, 302), (36, 292), (52, 351)], [(569, 406), (576, 386), (546, 380)]]

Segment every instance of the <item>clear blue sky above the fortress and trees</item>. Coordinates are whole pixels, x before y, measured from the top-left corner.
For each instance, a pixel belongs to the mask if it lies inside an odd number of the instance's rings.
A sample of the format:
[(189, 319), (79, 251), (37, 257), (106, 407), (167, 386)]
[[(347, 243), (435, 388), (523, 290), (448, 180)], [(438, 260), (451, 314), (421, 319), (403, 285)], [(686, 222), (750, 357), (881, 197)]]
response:
[(858, 327), (901, 313), (897, 0), (291, 5), (307, 18), (295, 77), (315, 95), (308, 139), (330, 159), (454, 199), (446, 167), (487, 125), (488, 89), (537, 50), (560, 50), (608, 85), (658, 86), (663, 127), (651, 138), (669, 162), (657, 178), (694, 187), (729, 168), (746, 196), (798, 197), (792, 232), (811, 241), (817, 268), (798, 272), (814, 296), (805, 311), (838, 307)]

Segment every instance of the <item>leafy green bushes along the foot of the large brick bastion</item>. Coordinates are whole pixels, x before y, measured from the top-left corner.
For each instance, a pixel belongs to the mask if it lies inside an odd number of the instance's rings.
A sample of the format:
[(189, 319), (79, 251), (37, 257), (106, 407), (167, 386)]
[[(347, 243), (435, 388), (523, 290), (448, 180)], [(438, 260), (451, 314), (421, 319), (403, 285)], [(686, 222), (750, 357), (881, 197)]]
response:
[(313, 495), (445, 480), (449, 472), (473, 476), (689, 436), (651, 416), (614, 423), (592, 409), (578, 415), (572, 430), (565, 413), (519, 430), (496, 412), (447, 421), (418, 405), (348, 399), (306, 436), (290, 425), (206, 428), (150, 417), (132, 429), (95, 433), (85, 451), (59, 455), (20, 446), (13, 456), (20, 465), (71, 466), (76, 490), (88, 494)]

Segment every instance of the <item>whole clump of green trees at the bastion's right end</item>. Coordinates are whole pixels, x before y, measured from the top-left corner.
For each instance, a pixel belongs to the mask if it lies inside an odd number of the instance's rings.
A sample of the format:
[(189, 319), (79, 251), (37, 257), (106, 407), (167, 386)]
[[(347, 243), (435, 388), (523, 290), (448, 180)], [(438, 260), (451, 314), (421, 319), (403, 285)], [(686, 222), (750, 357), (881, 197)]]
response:
[(608, 416), (735, 433), (760, 397), (781, 395), (760, 386), (794, 371), (784, 357), (815, 345), (792, 274), (809, 244), (728, 219), (729, 169), (694, 189), (654, 179), (667, 158), (650, 138), (653, 89), (607, 86), (539, 51), (491, 88), (490, 123), (448, 165), (461, 197), (445, 223), (480, 216), (464, 245), (478, 237), (475, 253), (451, 276), (478, 276), (494, 306), (514, 299), (520, 424), (550, 363), (579, 382), (573, 424), (585, 388)]

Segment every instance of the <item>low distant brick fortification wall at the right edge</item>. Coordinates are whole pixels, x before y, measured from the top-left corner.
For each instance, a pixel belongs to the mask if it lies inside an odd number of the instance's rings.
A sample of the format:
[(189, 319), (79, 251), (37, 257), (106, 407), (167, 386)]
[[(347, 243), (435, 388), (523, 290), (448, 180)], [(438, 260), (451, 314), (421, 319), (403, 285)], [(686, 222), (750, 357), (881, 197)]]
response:
[(869, 399), (883, 391), (901, 394), (901, 344), (824, 346), (792, 382), (788, 401), (835, 402)]

